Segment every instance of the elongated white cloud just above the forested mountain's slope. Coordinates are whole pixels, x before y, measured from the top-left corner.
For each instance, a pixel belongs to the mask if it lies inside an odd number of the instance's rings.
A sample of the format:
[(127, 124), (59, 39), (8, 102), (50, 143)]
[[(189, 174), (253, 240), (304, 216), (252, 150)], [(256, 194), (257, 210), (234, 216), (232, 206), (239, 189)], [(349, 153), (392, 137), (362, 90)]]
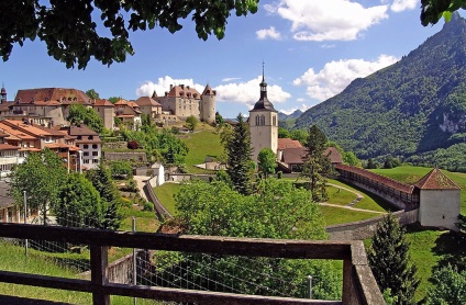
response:
[(364, 59), (331, 61), (317, 74), (310, 68), (301, 77), (295, 79), (293, 84), (307, 86), (309, 97), (324, 101), (342, 92), (354, 79), (366, 77), (397, 60), (393, 56), (380, 55), (375, 61)]

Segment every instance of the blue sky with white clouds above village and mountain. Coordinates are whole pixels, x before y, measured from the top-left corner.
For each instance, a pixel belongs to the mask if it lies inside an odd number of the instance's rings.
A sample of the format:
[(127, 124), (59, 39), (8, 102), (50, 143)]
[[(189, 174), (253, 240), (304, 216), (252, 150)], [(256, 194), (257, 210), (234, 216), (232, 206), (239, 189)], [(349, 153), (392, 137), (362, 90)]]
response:
[(15, 45), (0, 61), (8, 100), (20, 89), (95, 89), (100, 98), (163, 95), (170, 84), (217, 90), (223, 117), (247, 114), (259, 99), (263, 74), (276, 110), (306, 111), (340, 93), (356, 78), (387, 67), (442, 30), (421, 25), (420, 0), (260, 0), (255, 14), (228, 20), (225, 36), (198, 38), (193, 22), (131, 32), (135, 55), (110, 67), (91, 59), (67, 69), (40, 41)]

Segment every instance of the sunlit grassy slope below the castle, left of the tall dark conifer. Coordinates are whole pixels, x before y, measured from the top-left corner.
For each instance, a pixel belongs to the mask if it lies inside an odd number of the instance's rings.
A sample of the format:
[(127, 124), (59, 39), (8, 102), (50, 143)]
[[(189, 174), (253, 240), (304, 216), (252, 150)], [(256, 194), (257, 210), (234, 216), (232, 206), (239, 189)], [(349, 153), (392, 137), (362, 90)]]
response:
[(218, 158), (223, 154), (220, 135), (214, 133), (214, 128), (209, 127), (192, 134), (180, 135), (179, 137), (189, 148), (189, 152), (185, 158), (188, 172), (212, 173), (212, 171), (197, 168), (195, 165), (203, 163), (207, 157)]

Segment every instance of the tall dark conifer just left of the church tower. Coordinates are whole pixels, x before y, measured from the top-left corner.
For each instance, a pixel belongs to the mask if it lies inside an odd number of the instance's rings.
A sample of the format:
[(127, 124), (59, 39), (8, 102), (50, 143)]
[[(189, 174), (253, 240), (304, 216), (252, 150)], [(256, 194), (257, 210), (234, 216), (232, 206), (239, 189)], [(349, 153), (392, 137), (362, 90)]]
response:
[(233, 134), (228, 139), (226, 150), (226, 172), (234, 185), (234, 189), (243, 195), (251, 194), (253, 180), (253, 166), (251, 159), (253, 148), (251, 147), (249, 126), (240, 113), (236, 116), (237, 124), (233, 127)]

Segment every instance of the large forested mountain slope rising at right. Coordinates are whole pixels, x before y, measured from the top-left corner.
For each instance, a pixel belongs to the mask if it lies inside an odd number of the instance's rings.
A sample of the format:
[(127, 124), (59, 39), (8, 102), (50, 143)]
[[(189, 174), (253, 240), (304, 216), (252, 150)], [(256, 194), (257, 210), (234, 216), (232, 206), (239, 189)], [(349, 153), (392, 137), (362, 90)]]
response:
[(398, 63), (306, 111), (295, 127), (317, 124), (359, 158), (409, 157), (466, 136), (466, 21), (442, 31)]

